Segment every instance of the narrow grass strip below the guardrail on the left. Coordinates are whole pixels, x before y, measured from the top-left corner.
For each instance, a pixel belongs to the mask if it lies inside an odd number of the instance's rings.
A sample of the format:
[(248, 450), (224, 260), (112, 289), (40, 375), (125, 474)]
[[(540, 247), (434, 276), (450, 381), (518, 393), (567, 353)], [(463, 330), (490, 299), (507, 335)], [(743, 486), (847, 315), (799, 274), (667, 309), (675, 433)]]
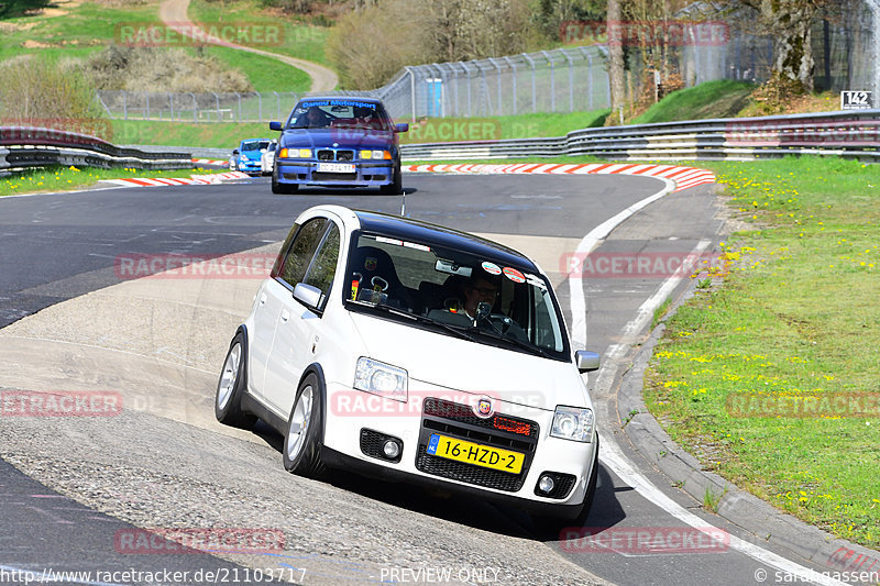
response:
[(0, 178), (0, 197), (43, 191), (69, 191), (92, 186), (101, 179), (122, 179), (128, 177), (176, 178), (210, 173), (222, 173), (222, 170), (44, 167)]

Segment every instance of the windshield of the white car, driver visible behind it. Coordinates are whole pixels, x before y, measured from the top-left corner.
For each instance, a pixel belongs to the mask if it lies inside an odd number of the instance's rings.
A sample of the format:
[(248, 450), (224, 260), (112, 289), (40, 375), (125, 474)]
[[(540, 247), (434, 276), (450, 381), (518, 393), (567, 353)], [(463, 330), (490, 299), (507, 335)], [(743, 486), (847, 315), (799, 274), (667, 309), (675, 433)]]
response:
[(350, 308), (385, 309), (389, 319), (475, 343), (570, 360), (546, 277), (492, 256), (355, 234), (344, 295)]

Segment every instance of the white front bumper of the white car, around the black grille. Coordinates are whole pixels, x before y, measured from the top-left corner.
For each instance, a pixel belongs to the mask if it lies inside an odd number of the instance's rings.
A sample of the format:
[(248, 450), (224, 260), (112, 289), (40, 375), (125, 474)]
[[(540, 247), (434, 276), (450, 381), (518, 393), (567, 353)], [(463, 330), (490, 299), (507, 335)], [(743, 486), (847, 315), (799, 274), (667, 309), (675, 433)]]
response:
[[(349, 469), (380, 477), (400, 478), (416, 484), (442, 487), (450, 491), (477, 494), (483, 498), (515, 502), (529, 510), (575, 511), (584, 500), (592, 473), (596, 442), (580, 443), (550, 436), (553, 412), (498, 401), (496, 413), (508, 420), (534, 423), (531, 436), (517, 438), (490, 429), (485, 421), (448, 421), (428, 411), (432, 392), (419, 392), (420, 405), (407, 405), (363, 394), (365, 400), (352, 398), (352, 390), (328, 385), (327, 424), (323, 445), (330, 458)], [(334, 399), (334, 392), (346, 397)], [(448, 395), (449, 391), (446, 392)], [(414, 400), (410, 392), (410, 401)], [(462, 394), (457, 394), (461, 397)], [(444, 396), (439, 391), (438, 396)], [(463, 405), (464, 401), (451, 399)], [(356, 412), (349, 409), (355, 407)], [(361, 407), (358, 407), (361, 406)], [(468, 408), (470, 409), (470, 408)], [(462, 422), (463, 421), (463, 422)], [(364, 432), (387, 435), (403, 442), (398, 461), (392, 462), (364, 447)], [(426, 445), (431, 433), (473, 443), (513, 450), (526, 454), (526, 465), (518, 475), (496, 472), (483, 466), (429, 456)], [(505, 444), (504, 442), (508, 442)], [(333, 462), (328, 462), (332, 465)], [(564, 494), (553, 497), (537, 494), (538, 479), (544, 473), (571, 476)]]

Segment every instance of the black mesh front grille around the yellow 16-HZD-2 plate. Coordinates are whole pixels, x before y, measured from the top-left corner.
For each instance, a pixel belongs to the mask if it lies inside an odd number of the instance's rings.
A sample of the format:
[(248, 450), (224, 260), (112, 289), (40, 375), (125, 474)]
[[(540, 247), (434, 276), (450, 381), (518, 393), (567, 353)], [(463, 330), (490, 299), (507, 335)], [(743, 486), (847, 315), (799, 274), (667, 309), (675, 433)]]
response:
[[(520, 433), (513, 430), (519, 430)], [(516, 491), (522, 488), (522, 483), (528, 474), (535, 450), (538, 446), (539, 431), (538, 423), (535, 421), (503, 413), (481, 419), (466, 405), (429, 397), (422, 407), (416, 468), (427, 474), (469, 484)], [(519, 474), (510, 474), (433, 456), (427, 452), (428, 442), (433, 433), (521, 452), (525, 454), (522, 471)]]

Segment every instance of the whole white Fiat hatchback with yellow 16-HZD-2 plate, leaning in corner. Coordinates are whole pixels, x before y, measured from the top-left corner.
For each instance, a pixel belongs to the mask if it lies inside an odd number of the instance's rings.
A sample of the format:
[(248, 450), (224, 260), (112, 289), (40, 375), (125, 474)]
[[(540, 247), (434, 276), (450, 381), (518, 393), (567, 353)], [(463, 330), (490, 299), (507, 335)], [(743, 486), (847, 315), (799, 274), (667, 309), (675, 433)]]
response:
[(522, 254), (406, 218), (319, 206), (297, 218), (230, 344), (215, 411), (326, 466), (588, 512), (598, 435), (548, 278)]

